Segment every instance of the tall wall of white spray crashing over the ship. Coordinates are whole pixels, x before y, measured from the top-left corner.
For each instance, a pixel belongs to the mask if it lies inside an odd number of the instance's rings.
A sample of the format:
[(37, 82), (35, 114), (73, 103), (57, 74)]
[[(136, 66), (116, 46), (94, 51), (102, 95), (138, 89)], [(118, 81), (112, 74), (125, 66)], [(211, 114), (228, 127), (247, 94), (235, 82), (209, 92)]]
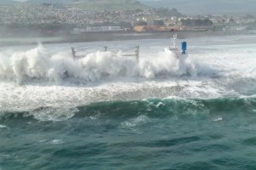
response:
[(75, 78), (84, 82), (118, 77), (177, 77), (214, 74), (206, 65), (199, 65), (195, 59), (181, 62), (171, 54), (156, 53), (142, 56), (137, 62), (133, 57), (124, 57), (120, 51), (97, 51), (84, 58), (73, 59), (71, 53), (50, 54), (42, 45), (26, 51), (0, 54), (0, 79), (18, 83), (40, 80), (62, 82), (65, 78)]

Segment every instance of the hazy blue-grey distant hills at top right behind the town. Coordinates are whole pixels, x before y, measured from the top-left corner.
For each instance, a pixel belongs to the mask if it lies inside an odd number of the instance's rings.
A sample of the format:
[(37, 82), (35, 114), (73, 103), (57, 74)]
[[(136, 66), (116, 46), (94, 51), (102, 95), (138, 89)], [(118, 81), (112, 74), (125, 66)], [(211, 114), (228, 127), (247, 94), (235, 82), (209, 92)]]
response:
[(256, 14), (255, 0), (138, 0), (154, 8), (177, 8), (183, 14)]

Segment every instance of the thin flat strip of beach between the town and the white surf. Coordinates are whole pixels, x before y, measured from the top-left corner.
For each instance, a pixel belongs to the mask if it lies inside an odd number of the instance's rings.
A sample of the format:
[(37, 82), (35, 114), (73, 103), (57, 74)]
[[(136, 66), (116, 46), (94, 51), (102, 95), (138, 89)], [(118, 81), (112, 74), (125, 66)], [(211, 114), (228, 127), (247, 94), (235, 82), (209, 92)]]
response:
[(0, 47), (22, 46), (22, 45), (37, 45), (55, 44), (55, 43), (75, 43), (75, 42), (109, 42), (109, 41), (129, 41), (140, 39), (170, 39), (174, 34), (178, 38), (189, 37), (218, 37), (248, 34), (250, 31), (168, 31), (168, 32), (143, 32), (143, 33), (105, 33), (95, 32), (81, 35), (62, 35), (53, 37), (0, 37)]

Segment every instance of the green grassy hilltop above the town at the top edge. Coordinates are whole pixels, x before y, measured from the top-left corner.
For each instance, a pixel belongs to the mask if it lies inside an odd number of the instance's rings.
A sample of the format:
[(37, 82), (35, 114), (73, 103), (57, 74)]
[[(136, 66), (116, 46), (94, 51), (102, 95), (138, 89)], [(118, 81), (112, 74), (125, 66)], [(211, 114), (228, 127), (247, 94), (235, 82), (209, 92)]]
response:
[(137, 0), (77, 0), (73, 5), (75, 8), (90, 11), (121, 11), (148, 8), (142, 3), (137, 2)]

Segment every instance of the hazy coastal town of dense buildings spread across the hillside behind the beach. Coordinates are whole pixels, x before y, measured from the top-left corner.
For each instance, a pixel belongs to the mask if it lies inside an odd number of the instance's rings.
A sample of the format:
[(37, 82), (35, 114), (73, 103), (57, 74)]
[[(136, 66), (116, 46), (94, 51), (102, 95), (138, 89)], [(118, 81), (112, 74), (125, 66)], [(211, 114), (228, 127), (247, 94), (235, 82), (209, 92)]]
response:
[(181, 14), (176, 8), (89, 11), (63, 3), (0, 5), (0, 36), (83, 34), (89, 32), (241, 31), (253, 29), (250, 14)]

